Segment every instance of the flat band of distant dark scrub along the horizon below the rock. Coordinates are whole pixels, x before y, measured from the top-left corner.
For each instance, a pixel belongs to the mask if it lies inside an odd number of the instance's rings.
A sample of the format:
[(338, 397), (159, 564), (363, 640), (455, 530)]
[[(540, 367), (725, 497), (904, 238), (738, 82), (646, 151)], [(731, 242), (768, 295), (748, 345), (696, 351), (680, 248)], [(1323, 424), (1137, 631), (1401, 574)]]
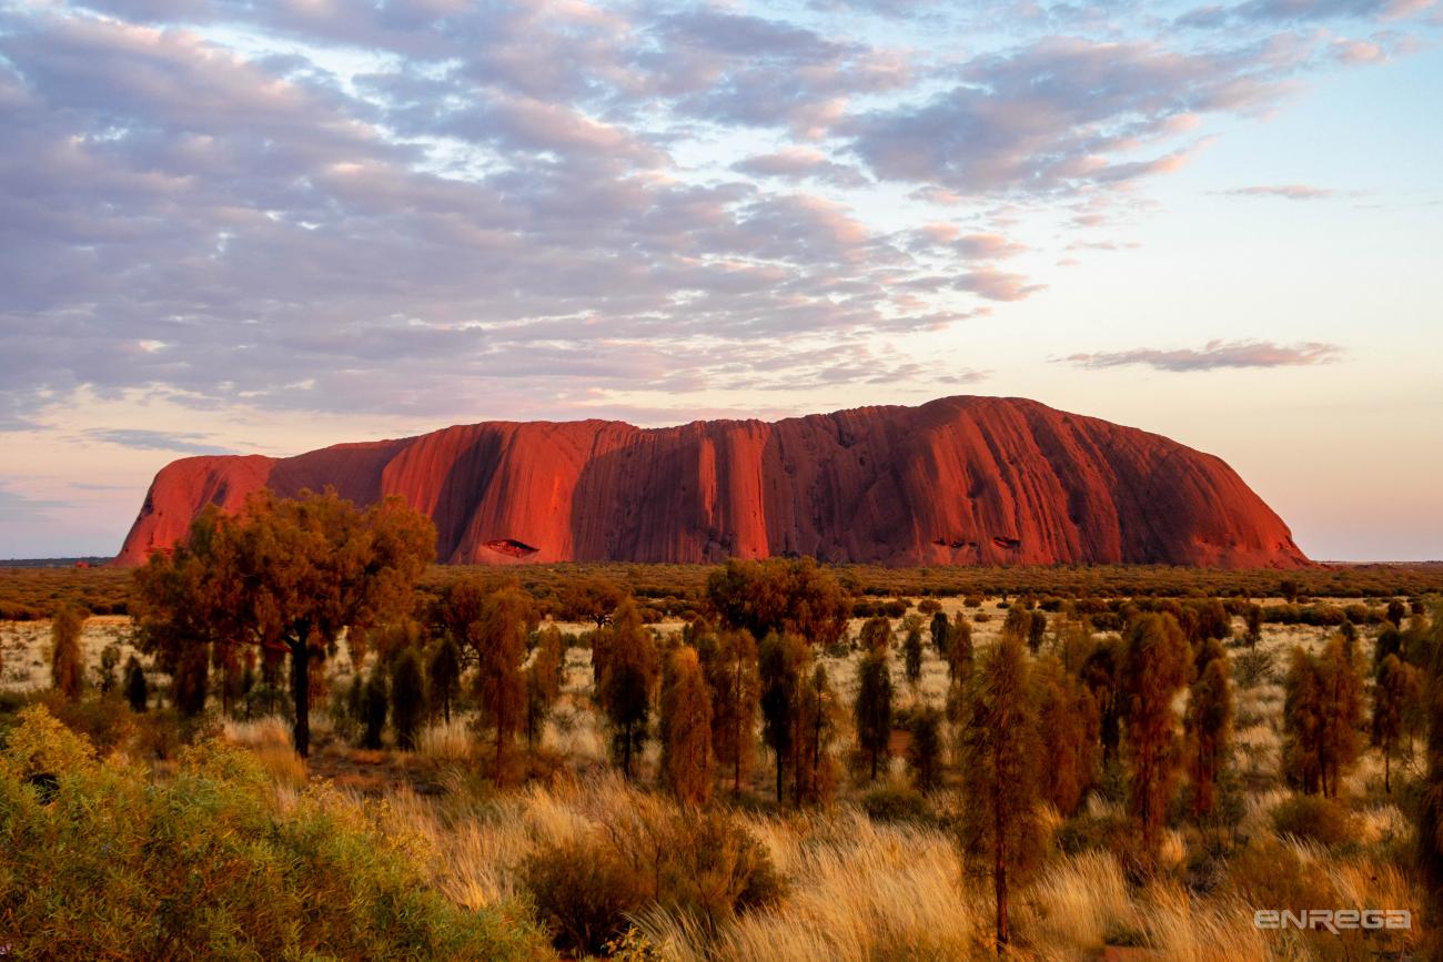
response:
[[(587, 578), (625, 584), (654, 617), (685, 617), (706, 594), (707, 564), (545, 564), (504, 568), (551, 614), (561, 612), (567, 587)], [(856, 599), (856, 614), (886, 612), (905, 597), (1046, 599), (1120, 597), (1283, 597), (1391, 599), (1443, 593), (1443, 564), (1356, 564), (1300, 571), (1185, 568), (1173, 565), (1027, 565), (928, 567), (827, 565)], [(421, 591), (439, 594), (456, 578), (499, 574), (485, 565), (433, 565)], [(128, 568), (19, 567), (0, 564), (0, 620), (49, 617), (63, 603), (94, 614), (126, 614), (131, 597)], [(892, 606), (896, 607), (895, 604)], [(1304, 623), (1333, 623), (1332, 613), (1297, 607)], [(1274, 620), (1274, 619), (1268, 619)], [(1341, 620), (1341, 619), (1339, 619)]]

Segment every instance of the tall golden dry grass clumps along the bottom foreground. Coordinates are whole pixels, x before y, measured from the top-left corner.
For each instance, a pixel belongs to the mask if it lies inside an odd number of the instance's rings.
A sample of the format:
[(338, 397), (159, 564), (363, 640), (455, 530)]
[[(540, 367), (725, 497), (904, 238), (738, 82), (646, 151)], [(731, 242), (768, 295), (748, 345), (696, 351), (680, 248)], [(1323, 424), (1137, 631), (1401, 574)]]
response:
[[(1268, 793), (1250, 818), (1284, 793)], [(388, 831), (424, 839), (433, 884), (456, 904), (481, 910), (525, 896), (518, 867), (540, 847), (635, 824), (638, 811), (671, 802), (615, 775), (531, 786), (499, 798), (390, 796)], [(1113, 808), (1094, 800), (1094, 813)], [(965, 959), (991, 953), (988, 880), (964, 874), (954, 837), (935, 825), (877, 824), (850, 808), (810, 815), (740, 813), (786, 880), (785, 897), (710, 929), (694, 917), (652, 906), (633, 917), (659, 958), (678, 962), (801, 962), (840, 959)], [(1397, 809), (1380, 812), (1395, 826)], [(1367, 832), (1364, 841), (1378, 832)], [(1367, 851), (1338, 857), (1307, 842), (1283, 842), (1317, 865), (1338, 906), (1410, 907), (1420, 912), (1407, 877)], [(1189, 893), (1176, 881), (1182, 837), (1165, 842), (1163, 870), (1139, 884), (1111, 852), (1053, 855), (1017, 891), (1017, 943), (1009, 958), (1078, 959), (1107, 946), (1137, 958), (1177, 962), (1261, 962), (1317, 958), (1316, 935), (1263, 932), (1255, 906), (1225, 890)], [(1418, 916), (1421, 917), (1421, 916)], [(1325, 948), (1328, 943), (1323, 943)], [(1120, 956), (1121, 958), (1121, 956)]]

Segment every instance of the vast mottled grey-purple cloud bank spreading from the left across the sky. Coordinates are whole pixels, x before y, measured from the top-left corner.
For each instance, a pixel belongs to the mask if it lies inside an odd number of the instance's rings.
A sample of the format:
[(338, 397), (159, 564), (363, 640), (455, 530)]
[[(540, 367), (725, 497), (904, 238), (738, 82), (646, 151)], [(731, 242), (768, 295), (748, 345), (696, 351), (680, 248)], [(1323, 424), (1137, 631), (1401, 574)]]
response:
[(942, 55), (962, 14), (864, 6), (0, 7), (0, 430), (82, 391), (444, 418), (798, 358), (932, 376), (823, 359), (1042, 290), (1025, 216), (1141, 216), (1199, 118), (1336, 63), (1062, 7)]

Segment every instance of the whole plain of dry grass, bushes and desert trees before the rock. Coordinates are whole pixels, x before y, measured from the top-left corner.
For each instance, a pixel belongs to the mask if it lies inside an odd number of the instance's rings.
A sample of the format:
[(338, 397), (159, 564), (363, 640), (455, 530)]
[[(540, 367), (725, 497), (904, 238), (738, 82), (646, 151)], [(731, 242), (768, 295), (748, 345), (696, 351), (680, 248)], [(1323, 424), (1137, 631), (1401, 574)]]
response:
[(785, 560), (662, 604), (596, 571), (418, 590), (390, 511), (205, 515), (136, 620), (0, 626), (7, 952), (1433, 948), (1427, 596), (870, 596)]

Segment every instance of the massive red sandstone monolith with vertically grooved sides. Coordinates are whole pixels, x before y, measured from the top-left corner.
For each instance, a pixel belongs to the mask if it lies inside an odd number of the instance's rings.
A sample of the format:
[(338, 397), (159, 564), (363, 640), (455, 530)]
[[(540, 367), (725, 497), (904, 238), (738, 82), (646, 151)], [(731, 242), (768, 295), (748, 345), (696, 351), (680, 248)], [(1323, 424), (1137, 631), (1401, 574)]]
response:
[(1309, 564), (1221, 459), (1020, 398), (955, 397), (776, 423), (489, 421), (297, 457), (166, 466), (117, 558), (251, 490), (403, 495), (460, 564)]

